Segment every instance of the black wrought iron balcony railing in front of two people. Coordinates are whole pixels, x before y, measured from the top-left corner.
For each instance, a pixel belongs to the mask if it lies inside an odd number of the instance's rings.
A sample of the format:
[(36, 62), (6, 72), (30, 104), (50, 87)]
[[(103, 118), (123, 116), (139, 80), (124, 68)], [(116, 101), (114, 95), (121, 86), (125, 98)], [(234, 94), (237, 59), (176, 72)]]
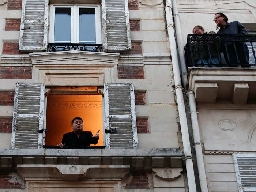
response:
[(256, 67), (256, 35), (188, 34), (187, 67)]

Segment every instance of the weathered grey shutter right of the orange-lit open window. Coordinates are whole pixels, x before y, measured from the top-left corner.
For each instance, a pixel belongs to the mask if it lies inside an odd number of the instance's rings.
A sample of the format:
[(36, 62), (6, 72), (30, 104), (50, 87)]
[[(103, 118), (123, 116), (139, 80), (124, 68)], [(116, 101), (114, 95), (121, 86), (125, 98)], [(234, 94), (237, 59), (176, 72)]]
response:
[(132, 83), (105, 84), (106, 148), (137, 148), (135, 97)]

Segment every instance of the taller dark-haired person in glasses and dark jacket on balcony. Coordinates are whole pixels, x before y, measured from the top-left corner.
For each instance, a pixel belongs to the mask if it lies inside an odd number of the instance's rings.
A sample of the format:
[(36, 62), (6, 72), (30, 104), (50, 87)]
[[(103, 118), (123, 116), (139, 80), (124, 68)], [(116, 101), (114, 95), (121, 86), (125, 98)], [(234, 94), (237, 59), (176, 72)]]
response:
[[(246, 30), (245, 26), (243, 26), (238, 21), (227, 22), (229, 19), (223, 13), (216, 13), (214, 16), (214, 22), (216, 23), (216, 29), (219, 30), (217, 34), (219, 35), (247, 35), (248, 31)], [(234, 45), (237, 49), (237, 56), (236, 50)], [(227, 46), (227, 50), (226, 50)], [(224, 54), (224, 58), (226, 63), (228, 64), (248, 64), (249, 62), (249, 50), (245, 43), (243, 42), (236, 42), (233, 44), (232, 42), (227, 42), (226, 46), (222, 43), (222, 52)]]

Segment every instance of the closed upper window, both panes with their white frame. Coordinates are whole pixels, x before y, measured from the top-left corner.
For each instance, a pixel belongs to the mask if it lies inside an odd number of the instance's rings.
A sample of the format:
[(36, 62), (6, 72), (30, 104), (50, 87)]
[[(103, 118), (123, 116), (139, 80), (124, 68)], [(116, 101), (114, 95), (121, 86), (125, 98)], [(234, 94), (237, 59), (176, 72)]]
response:
[(49, 42), (100, 44), (100, 5), (51, 5)]

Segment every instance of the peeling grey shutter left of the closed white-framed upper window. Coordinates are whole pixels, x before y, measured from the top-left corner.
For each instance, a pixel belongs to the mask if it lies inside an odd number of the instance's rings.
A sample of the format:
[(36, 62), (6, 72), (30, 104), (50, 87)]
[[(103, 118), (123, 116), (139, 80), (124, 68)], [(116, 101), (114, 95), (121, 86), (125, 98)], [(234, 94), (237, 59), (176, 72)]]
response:
[(47, 26), (48, 0), (23, 0), (19, 50), (46, 50)]

